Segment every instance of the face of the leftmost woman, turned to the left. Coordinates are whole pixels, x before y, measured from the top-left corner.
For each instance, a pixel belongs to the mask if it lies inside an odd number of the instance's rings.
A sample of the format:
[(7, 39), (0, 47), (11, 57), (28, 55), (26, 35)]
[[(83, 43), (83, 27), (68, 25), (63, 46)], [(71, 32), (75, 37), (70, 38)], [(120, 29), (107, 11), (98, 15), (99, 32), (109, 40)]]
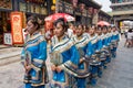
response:
[(38, 25), (32, 23), (32, 20), (29, 20), (27, 23), (27, 31), (29, 34), (33, 34), (37, 31)]

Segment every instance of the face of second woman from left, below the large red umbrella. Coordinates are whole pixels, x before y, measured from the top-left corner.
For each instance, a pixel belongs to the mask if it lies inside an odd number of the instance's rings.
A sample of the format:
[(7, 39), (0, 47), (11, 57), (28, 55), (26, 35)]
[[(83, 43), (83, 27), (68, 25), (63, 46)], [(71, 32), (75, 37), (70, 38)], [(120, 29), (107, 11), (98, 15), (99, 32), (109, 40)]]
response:
[(54, 33), (58, 37), (63, 36), (65, 30), (63, 29), (62, 24), (59, 22), (57, 23), (55, 28), (54, 28)]

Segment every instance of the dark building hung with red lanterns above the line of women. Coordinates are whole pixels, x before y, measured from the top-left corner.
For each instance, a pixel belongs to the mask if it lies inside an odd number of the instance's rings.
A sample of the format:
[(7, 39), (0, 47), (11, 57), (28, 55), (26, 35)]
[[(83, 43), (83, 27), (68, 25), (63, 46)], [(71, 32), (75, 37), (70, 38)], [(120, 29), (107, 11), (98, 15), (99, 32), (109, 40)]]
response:
[(64, 12), (73, 15), (75, 21), (91, 25), (98, 22), (98, 12), (101, 6), (93, 0), (52, 0), (52, 12)]

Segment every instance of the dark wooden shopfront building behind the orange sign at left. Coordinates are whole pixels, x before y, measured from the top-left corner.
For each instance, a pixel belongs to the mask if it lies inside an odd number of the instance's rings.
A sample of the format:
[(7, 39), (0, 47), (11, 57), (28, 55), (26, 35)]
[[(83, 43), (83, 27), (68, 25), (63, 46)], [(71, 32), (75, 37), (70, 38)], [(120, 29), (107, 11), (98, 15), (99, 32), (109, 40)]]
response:
[[(50, 12), (50, 0), (0, 0), (0, 44), (3, 44), (3, 40), (11, 42), (11, 12), (21, 12), (22, 26), (24, 28), (25, 19), (31, 14), (37, 14), (41, 19), (47, 16)], [(7, 34), (3, 38), (4, 33)]]

